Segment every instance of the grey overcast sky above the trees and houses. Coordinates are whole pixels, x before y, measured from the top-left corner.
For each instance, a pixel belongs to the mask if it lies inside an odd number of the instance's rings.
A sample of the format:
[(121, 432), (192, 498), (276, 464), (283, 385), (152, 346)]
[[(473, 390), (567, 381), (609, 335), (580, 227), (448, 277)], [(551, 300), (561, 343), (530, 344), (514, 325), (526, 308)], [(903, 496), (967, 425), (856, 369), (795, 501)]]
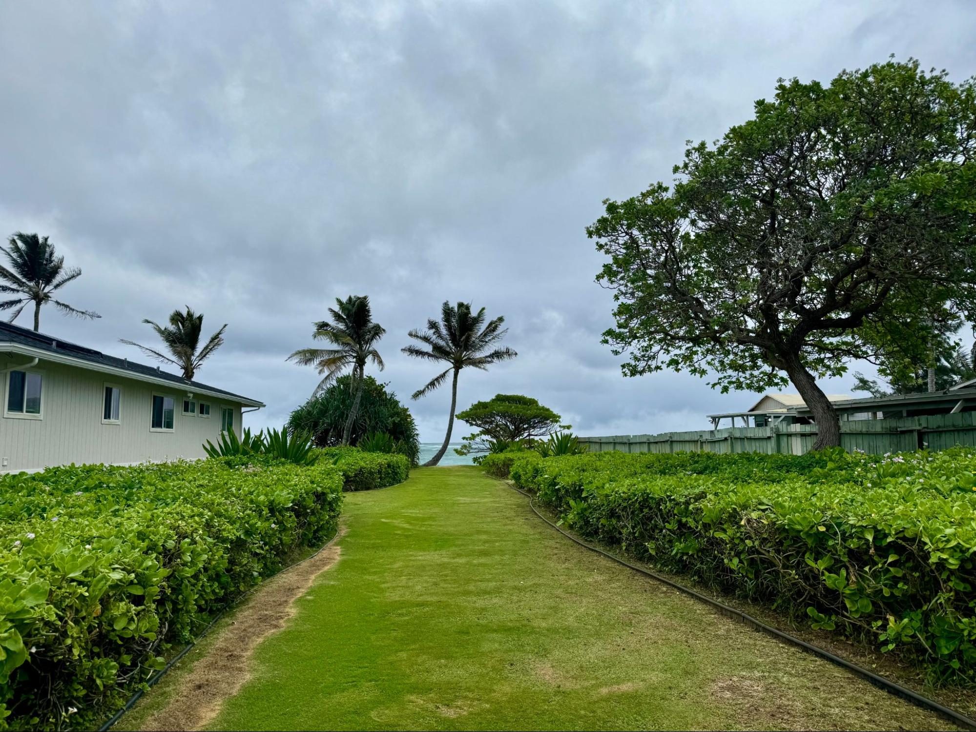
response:
[[(407, 330), (464, 300), (519, 356), (463, 372), (459, 408), (516, 392), (583, 434), (704, 428), (756, 396), (621, 376), (584, 230), (600, 201), (670, 181), (684, 141), (778, 77), (895, 54), (959, 81), (974, 36), (964, 1), (5, 2), (0, 234), (48, 234), (84, 270), (63, 300), (102, 319), (47, 307), (44, 332), (142, 358), (118, 339), (152, 344), (143, 317), (227, 323), (198, 379), (264, 401), (254, 427), (317, 383), (285, 362), (311, 322), (368, 294), (375, 375), (404, 401), (436, 373), (399, 352)], [(410, 404), (423, 439), (449, 402)]]

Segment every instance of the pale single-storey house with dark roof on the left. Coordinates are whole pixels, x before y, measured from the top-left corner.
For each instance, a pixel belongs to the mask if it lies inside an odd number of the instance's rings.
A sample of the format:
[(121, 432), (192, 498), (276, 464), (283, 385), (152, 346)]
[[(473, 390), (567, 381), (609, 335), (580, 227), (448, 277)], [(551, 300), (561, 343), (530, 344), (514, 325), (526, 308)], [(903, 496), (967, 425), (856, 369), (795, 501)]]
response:
[(0, 323), (0, 472), (205, 457), (256, 399)]

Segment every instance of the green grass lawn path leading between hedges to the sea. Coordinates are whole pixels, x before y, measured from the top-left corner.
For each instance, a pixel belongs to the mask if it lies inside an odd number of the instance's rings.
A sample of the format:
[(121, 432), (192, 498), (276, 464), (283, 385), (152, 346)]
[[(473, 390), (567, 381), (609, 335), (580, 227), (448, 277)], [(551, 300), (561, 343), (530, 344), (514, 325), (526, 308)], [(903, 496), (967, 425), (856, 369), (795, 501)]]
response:
[(213, 729), (929, 729), (553, 532), (477, 468), (346, 496), (342, 558)]

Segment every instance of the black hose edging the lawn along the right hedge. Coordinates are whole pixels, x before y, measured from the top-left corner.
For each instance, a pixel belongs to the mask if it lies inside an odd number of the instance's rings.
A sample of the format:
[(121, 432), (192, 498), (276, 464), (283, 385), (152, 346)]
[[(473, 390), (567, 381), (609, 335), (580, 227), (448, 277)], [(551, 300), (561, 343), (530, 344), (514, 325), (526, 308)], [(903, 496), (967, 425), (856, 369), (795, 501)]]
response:
[(790, 633), (773, 628), (772, 626), (768, 626), (762, 621), (753, 618), (752, 615), (748, 615), (747, 613), (744, 613), (741, 610), (737, 610), (734, 607), (730, 607), (729, 605), (721, 603), (718, 600), (712, 599), (712, 597), (709, 597), (706, 594), (702, 594), (701, 592), (692, 590), (691, 588), (686, 588), (683, 585), (678, 585), (676, 582), (669, 580), (667, 577), (664, 577), (663, 575), (659, 575), (656, 572), (652, 572), (651, 570), (645, 569), (644, 567), (637, 566), (636, 564), (631, 564), (626, 559), (621, 559), (619, 556), (616, 556), (609, 551), (605, 551), (604, 549), (600, 549), (599, 547), (594, 547), (590, 544), (587, 544), (586, 542), (570, 534), (568, 531), (564, 531), (562, 528), (560, 528), (552, 521), (550, 521), (549, 517), (547, 517), (542, 512), (540, 512), (540, 510), (536, 508), (536, 500), (535, 497), (532, 496), (532, 494), (527, 493), (519, 488), (516, 488), (510, 483), (506, 483), (506, 484), (508, 485), (508, 487), (518, 491), (523, 496), (529, 499), (529, 508), (532, 508), (532, 511), (537, 516), (543, 519), (546, 523), (549, 524), (549, 526), (551, 526), (553, 529), (558, 531), (564, 537), (572, 540), (573, 542), (580, 545), (581, 547), (585, 547), (586, 549), (590, 549), (590, 551), (595, 551), (597, 554), (602, 554), (603, 556), (613, 559), (618, 564), (623, 564), (625, 567), (629, 567), (635, 572), (640, 572), (641, 574), (646, 575), (651, 579), (664, 583), (665, 585), (673, 588), (674, 590), (684, 592), (685, 594), (690, 594), (695, 599), (708, 603), (713, 608), (721, 612), (723, 615), (742, 621), (746, 625), (751, 626), (752, 629), (754, 630), (760, 630), (769, 635), (772, 635), (775, 638), (779, 638), (780, 640), (785, 640), (788, 643), (797, 645), (800, 648), (803, 648), (804, 650), (807, 650), (816, 656), (820, 656), (822, 659), (830, 661), (832, 664), (839, 666), (842, 669), (846, 669), (847, 671), (852, 671), (853, 673), (861, 676), (862, 678), (871, 681), (871, 683), (873, 683), (874, 686), (877, 686), (878, 688), (888, 692), (889, 694), (894, 694), (895, 696), (901, 697), (902, 699), (911, 702), (917, 707), (921, 707), (923, 709), (929, 710), (930, 712), (937, 712), (948, 719), (952, 719), (954, 722), (956, 722), (956, 724), (966, 727), (967, 729), (976, 730), (976, 720), (970, 719), (965, 714), (961, 714), (959, 712), (956, 712), (955, 710), (949, 709), (948, 707), (944, 707), (938, 702), (929, 699), (928, 697), (924, 697), (921, 694), (916, 693), (915, 691), (912, 691), (912, 689), (908, 689), (899, 683), (896, 683), (888, 678), (885, 678), (884, 676), (879, 676), (878, 674), (874, 673), (874, 671), (868, 671), (867, 669), (860, 667), (857, 664), (853, 664), (850, 661), (840, 658), (839, 656), (835, 656), (830, 651), (825, 650), (819, 646), (815, 646), (812, 643), (807, 643), (805, 640), (800, 640), (799, 638), (794, 637)]

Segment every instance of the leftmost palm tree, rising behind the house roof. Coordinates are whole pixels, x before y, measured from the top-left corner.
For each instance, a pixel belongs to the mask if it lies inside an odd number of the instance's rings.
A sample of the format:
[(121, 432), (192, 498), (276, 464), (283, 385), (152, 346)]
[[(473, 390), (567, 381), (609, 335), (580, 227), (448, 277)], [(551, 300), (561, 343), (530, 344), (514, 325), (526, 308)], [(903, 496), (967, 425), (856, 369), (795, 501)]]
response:
[(80, 277), (81, 269), (78, 267), (65, 269), (64, 258), (55, 253), (55, 245), (48, 241), (47, 236), (18, 231), (7, 240), (7, 245), (9, 249), (0, 247), (0, 252), (6, 255), (7, 262), (10, 263), (9, 269), (0, 266), (0, 280), (2, 280), (0, 293), (18, 296), (0, 303), (0, 310), (17, 307), (7, 320), (8, 323), (17, 320), (17, 316), (29, 303), (34, 304), (35, 332), (40, 330), (41, 305), (45, 303), (54, 303), (67, 315), (82, 318), (102, 317), (97, 312), (79, 310), (51, 297), (51, 293)]

